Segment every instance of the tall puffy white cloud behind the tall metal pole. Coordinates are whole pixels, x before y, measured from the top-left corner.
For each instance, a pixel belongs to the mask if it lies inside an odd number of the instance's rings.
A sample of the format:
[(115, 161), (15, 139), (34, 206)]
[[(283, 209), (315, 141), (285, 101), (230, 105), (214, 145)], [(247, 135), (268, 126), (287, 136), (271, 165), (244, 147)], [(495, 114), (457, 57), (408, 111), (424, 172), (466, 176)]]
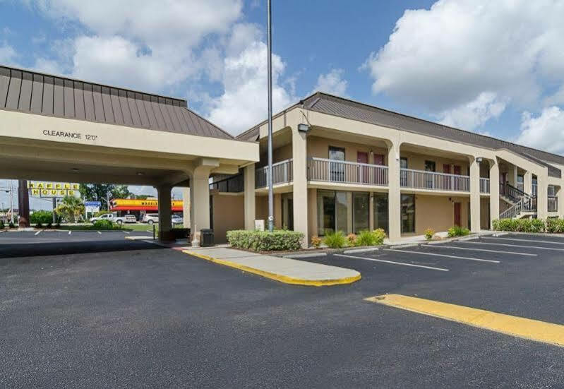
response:
[[(208, 119), (233, 134), (267, 116), (267, 46), (254, 25), (237, 25), (224, 59), (224, 93), (210, 102)], [(272, 54), (272, 107), (276, 112), (293, 97), (281, 85), (284, 62)]]

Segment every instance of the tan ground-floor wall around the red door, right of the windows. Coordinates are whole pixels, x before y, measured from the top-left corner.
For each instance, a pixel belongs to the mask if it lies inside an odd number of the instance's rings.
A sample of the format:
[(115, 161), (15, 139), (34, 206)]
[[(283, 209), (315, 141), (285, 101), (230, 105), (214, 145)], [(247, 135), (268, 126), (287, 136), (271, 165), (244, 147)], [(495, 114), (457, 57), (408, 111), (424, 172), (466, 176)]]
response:
[(454, 203), (460, 203), (460, 222), (468, 225), (468, 197), (415, 195), (415, 234), (423, 234), (431, 228), (436, 232), (446, 231), (455, 224)]

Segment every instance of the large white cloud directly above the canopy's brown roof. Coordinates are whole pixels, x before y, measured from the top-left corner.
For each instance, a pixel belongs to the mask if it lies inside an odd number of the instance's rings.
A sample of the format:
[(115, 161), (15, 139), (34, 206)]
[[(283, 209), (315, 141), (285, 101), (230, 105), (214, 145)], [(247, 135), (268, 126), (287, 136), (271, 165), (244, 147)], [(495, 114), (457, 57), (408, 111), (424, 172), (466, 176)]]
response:
[[(241, 17), (241, 0), (38, 0), (40, 11), (79, 33), (65, 46), (57, 73), (162, 92), (191, 76), (220, 78), (217, 50), (198, 52)], [(61, 50), (57, 50), (61, 52)]]

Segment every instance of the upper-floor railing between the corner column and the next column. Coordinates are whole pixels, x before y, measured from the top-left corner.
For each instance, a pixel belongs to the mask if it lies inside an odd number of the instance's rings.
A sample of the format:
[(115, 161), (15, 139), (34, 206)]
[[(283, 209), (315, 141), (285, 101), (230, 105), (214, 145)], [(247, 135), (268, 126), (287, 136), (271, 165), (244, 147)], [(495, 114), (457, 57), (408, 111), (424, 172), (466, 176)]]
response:
[(311, 157), (308, 160), (308, 180), (387, 186), (388, 167)]

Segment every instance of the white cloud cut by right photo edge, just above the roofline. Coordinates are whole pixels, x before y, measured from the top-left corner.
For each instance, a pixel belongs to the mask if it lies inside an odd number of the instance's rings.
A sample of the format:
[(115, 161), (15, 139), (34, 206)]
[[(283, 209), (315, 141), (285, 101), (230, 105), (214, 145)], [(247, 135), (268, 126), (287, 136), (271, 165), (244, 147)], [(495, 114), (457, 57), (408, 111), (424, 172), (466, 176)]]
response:
[(564, 153), (564, 110), (546, 107), (539, 116), (524, 112), (516, 142), (548, 152)]

